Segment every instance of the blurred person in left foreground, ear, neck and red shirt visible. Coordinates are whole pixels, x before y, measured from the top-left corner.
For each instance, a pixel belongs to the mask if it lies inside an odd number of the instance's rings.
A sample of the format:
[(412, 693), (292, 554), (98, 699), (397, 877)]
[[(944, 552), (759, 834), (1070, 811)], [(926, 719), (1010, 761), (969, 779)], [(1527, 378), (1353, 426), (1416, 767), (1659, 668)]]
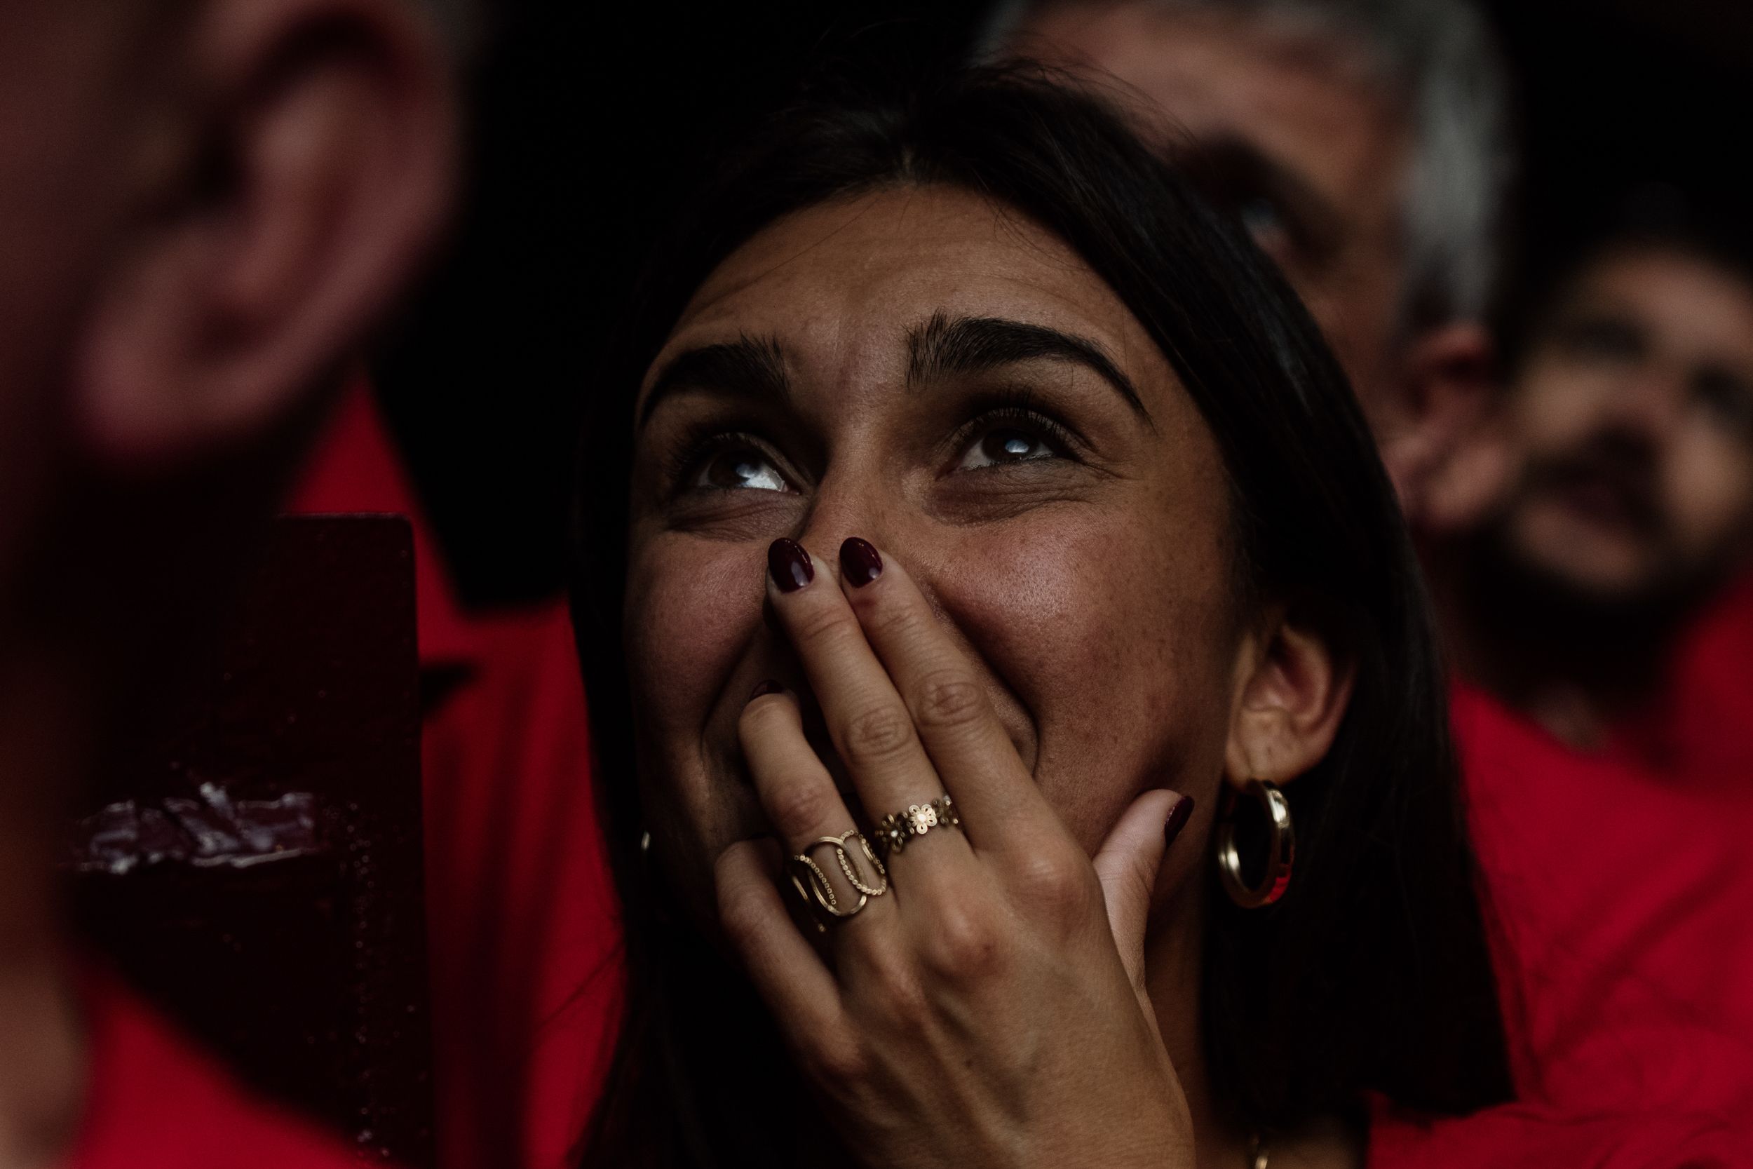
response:
[(72, 959), (65, 817), (449, 203), (401, 0), (0, 5), (0, 1167), (344, 1165)]

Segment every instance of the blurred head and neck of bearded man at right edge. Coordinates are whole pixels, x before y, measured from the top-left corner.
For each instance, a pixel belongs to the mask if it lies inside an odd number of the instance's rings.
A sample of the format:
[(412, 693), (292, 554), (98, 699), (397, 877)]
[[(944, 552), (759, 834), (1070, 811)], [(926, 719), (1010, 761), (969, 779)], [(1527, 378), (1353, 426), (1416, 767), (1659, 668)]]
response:
[(1753, 266), (1716, 231), (1634, 228), (1527, 319), (1473, 454), (1508, 487), (1441, 575), (1458, 664), (1599, 752), (1753, 547)]

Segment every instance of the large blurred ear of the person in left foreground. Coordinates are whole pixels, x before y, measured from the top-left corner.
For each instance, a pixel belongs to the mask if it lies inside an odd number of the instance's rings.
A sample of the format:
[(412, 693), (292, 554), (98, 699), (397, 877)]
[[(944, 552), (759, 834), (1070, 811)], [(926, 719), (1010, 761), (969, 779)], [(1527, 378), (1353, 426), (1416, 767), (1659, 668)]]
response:
[(286, 419), (382, 319), (451, 200), (433, 32), (405, 0), (198, 0), (131, 238), (74, 393), (103, 461), (216, 454)]

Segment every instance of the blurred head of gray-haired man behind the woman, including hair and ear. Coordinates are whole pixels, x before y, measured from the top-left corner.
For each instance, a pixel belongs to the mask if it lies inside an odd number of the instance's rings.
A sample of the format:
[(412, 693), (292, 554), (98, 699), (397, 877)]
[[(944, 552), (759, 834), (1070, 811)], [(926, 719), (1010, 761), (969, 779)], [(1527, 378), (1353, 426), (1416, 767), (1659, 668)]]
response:
[(1413, 521), (1490, 391), (1508, 82), (1466, 0), (1011, 0), (989, 56), (1183, 131), (1352, 375)]

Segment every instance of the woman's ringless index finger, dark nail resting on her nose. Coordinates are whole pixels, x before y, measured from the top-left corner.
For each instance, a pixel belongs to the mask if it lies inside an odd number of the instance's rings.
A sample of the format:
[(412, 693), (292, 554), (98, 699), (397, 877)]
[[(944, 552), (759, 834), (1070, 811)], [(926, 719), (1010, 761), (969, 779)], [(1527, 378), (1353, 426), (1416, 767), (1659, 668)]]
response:
[(1001, 843), (1018, 817), (1047, 803), (997, 720), (985, 684), (931, 605), (891, 557), (854, 536), (840, 549), (841, 585), (924, 750), (954, 796), (976, 847)]

